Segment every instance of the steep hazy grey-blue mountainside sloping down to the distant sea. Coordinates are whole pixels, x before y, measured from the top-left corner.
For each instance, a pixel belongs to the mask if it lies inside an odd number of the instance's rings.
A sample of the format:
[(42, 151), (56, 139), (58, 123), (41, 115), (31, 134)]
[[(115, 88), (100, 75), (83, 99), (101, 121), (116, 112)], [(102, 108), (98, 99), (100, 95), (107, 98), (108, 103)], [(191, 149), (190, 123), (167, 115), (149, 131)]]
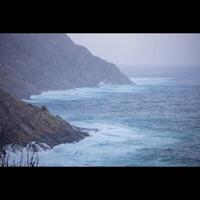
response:
[(66, 34), (0, 34), (0, 87), (18, 99), (102, 81), (132, 83)]

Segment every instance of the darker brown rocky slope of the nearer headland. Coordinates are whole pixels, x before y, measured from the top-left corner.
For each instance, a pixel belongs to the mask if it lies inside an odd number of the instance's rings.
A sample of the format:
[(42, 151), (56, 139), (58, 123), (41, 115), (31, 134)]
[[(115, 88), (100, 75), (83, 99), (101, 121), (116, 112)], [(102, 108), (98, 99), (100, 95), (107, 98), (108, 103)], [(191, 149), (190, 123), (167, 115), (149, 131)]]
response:
[(26, 146), (33, 141), (53, 147), (77, 142), (88, 135), (52, 115), (46, 107), (18, 101), (0, 89), (0, 147), (7, 144)]

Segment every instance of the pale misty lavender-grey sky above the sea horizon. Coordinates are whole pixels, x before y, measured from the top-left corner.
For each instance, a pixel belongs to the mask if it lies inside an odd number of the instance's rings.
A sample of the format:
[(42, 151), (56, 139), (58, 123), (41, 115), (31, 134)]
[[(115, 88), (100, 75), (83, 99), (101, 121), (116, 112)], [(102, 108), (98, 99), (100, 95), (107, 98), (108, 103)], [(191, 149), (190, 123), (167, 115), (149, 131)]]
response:
[(200, 66), (200, 34), (68, 34), (96, 56), (122, 66)]

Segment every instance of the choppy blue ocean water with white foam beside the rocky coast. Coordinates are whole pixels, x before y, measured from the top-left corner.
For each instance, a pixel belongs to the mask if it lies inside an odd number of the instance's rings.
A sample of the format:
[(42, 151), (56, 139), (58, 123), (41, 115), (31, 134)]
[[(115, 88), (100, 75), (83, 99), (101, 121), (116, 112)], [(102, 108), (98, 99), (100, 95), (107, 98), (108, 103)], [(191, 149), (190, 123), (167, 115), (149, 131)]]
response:
[(135, 85), (49, 91), (29, 100), (71, 124), (98, 129), (39, 152), (41, 166), (200, 166), (200, 84), (173, 77)]

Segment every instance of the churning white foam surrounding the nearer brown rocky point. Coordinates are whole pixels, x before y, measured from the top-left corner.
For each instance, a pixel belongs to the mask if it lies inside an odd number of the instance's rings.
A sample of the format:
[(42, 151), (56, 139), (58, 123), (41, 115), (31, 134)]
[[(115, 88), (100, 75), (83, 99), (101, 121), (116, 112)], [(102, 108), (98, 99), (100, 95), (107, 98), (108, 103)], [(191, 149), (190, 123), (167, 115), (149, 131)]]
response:
[[(172, 138), (157, 137), (137, 128), (106, 122), (78, 122), (77, 126), (97, 128), (90, 137), (75, 143), (62, 144), (51, 150), (39, 152), (41, 166), (109, 166), (133, 155), (141, 148), (158, 147), (174, 143)], [(162, 142), (161, 142), (162, 141)]]

